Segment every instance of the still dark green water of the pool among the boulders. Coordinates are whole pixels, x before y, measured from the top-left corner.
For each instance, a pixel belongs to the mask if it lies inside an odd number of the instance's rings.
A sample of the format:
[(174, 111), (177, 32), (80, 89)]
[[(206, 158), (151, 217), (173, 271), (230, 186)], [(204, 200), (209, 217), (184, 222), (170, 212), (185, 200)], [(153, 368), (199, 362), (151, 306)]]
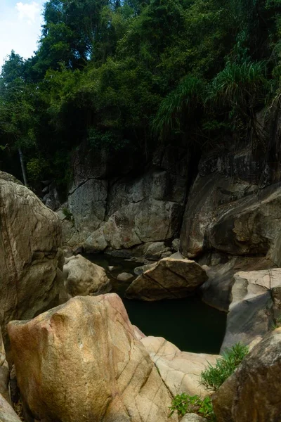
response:
[(164, 337), (186, 352), (218, 353), (226, 330), (226, 314), (205, 305), (199, 297), (179, 300), (159, 300), (143, 302), (124, 298), (128, 283), (117, 282), (121, 272), (133, 274), (133, 269), (140, 264), (122, 260), (110, 255), (86, 255), (87, 259), (101, 267), (115, 267), (110, 275), (113, 290), (124, 302), (132, 324), (140, 328), (145, 335)]

